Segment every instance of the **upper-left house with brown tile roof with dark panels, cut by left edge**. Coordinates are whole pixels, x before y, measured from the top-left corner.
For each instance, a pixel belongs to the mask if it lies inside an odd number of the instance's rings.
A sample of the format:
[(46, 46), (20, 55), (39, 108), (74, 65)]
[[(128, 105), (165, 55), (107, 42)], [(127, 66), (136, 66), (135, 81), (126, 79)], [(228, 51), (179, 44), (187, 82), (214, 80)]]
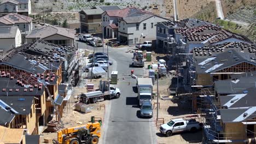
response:
[(21, 31), (22, 43), (25, 43), (25, 35), (32, 31), (33, 24), (31, 17), (10, 13), (0, 17), (0, 26), (18, 26)]

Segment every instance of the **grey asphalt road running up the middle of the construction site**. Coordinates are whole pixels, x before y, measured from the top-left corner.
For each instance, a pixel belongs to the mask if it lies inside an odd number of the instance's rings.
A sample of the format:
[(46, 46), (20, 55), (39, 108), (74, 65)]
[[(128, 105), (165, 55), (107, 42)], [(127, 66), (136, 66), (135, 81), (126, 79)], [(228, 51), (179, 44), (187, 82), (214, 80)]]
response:
[[(79, 47), (92, 50), (93, 47), (78, 43)], [(105, 47), (106, 49), (106, 47)], [(102, 47), (98, 47), (102, 51)], [(106, 51), (106, 50), (105, 50)], [(132, 53), (126, 53), (127, 48), (109, 48), (109, 59), (113, 61), (111, 70), (118, 71), (118, 85), (121, 95), (119, 99), (110, 100), (106, 108), (103, 129), (100, 139), (103, 144), (131, 144), (131, 143), (156, 143), (155, 130), (152, 128), (153, 118), (139, 118), (137, 106), (136, 80), (132, 79), (130, 71), (133, 69), (137, 76), (144, 75), (143, 68), (130, 68)], [(109, 70), (111, 73), (111, 71)], [(109, 75), (110, 76), (110, 75)], [(124, 79), (123, 79), (124, 78)]]

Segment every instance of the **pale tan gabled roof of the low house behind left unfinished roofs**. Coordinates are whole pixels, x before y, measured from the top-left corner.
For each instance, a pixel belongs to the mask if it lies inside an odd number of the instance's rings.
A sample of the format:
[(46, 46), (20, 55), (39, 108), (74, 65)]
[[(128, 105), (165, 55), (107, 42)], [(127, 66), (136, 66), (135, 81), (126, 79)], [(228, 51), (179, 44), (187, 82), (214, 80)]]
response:
[(55, 26), (44, 26), (40, 28), (33, 29), (26, 38), (40, 38), (44, 39), (50, 37), (51, 35), (59, 34), (64, 37), (74, 39), (73, 29), (55, 27)]

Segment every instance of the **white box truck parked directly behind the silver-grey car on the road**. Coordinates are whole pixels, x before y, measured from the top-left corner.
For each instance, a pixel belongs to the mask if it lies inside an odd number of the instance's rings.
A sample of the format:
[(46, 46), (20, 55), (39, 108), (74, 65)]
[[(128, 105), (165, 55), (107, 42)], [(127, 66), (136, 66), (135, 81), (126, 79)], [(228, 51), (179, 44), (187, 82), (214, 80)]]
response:
[(151, 78), (137, 78), (138, 104), (142, 105), (144, 100), (152, 100), (153, 84)]

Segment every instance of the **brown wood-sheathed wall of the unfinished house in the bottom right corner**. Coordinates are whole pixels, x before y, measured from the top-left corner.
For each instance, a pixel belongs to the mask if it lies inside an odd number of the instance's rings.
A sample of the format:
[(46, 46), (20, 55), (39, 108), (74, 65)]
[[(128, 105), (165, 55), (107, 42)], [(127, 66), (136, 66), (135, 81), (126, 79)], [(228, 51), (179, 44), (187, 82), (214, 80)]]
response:
[[(224, 123), (224, 137), (229, 137), (229, 140), (245, 140), (245, 125), (239, 123)], [(240, 142), (241, 144), (243, 142)]]

